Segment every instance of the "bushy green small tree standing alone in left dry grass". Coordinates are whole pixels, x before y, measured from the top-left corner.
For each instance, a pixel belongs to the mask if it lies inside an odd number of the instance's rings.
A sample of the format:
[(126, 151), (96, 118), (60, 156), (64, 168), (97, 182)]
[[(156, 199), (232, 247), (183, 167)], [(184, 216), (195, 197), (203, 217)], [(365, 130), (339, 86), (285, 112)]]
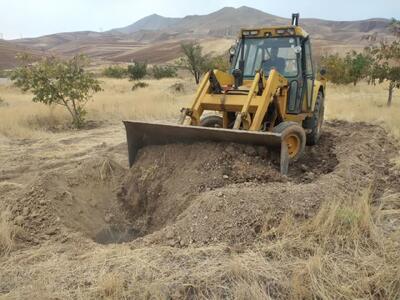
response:
[(64, 106), (72, 117), (72, 124), (81, 128), (85, 121), (85, 105), (93, 94), (101, 91), (100, 82), (84, 69), (86, 57), (70, 60), (46, 57), (32, 63), (26, 55), (20, 56), (21, 66), (11, 73), (11, 80), (23, 91), (33, 93), (33, 101), (46, 105)]

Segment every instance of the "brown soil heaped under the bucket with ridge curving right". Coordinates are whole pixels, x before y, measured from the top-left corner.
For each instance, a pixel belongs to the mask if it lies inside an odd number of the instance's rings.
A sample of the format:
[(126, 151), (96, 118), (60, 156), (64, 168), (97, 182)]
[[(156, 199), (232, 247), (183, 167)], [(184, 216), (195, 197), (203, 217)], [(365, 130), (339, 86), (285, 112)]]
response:
[(285, 177), (263, 148), (153, 146), (139, 154), (119, 199), (146, 236), (137, 242), (251, 244), (286, 214), (308, 218), (323, 201), (355, 193), (376, 178), (389, 181), (380, 166), (390, 165), (393, 147), (381, 128), (332, 123)]

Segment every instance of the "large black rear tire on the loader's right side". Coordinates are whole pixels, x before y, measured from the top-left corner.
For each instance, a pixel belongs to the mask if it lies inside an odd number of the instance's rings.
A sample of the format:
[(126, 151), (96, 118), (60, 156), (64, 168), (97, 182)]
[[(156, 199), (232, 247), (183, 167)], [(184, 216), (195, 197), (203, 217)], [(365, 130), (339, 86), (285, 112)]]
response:
[(314, 146), (322, 134), (322, 125), (324, 124), (325, 114), (325, 99), (324, 95), (319, 92), (317, 102), (315, 103), (314, 113), (311, 118), (306, 118), (303, 122), (303, 127), (310, 132), (307, 133), (307, 145)]

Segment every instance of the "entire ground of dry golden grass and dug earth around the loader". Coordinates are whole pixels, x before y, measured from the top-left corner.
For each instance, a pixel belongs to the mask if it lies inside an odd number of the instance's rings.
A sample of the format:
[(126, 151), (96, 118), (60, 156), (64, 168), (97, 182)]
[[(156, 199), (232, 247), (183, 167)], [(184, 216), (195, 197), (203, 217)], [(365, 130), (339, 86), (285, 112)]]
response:
[[(329, 85), (285, 178), (213, 144), (128, 170), (121, 120), (173, 122), (195, 85), (102, 81), (81, 131), (0, 85), (0, 299), (399, 299), (400, 92)], [(108, 243), (116, 225), (135, 239)]]

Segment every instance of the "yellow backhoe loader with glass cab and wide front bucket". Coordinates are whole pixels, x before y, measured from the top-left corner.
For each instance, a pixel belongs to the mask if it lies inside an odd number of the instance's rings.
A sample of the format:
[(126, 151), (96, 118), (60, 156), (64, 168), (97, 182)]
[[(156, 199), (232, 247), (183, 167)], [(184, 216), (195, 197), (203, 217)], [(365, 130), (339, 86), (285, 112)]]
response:
[(318, 142), (324, 119), (324, 72), (317, 80), (310, 38), (298, 22), (293, 14), (290, 26), (242, 29), (230, 72), (204, 75), (179, 124), (125, 121), (130, 165), (147, 145), (217, 141), (276, 149), (287, 174), (305, 145)]

